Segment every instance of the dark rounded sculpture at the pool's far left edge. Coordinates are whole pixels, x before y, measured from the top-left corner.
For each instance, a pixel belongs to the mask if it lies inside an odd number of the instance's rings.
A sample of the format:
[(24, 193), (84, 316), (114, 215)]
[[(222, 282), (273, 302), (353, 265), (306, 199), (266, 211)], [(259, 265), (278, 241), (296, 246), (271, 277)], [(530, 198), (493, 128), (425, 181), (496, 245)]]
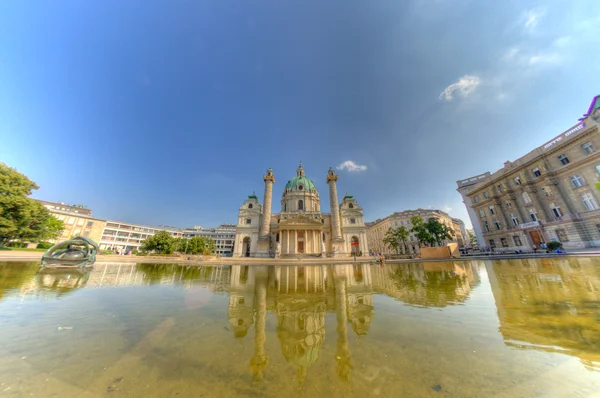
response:
[(96, 262), (98, 244), (78, 236), (52, 246), (42, 256), (42, 267), (89, 267)]

